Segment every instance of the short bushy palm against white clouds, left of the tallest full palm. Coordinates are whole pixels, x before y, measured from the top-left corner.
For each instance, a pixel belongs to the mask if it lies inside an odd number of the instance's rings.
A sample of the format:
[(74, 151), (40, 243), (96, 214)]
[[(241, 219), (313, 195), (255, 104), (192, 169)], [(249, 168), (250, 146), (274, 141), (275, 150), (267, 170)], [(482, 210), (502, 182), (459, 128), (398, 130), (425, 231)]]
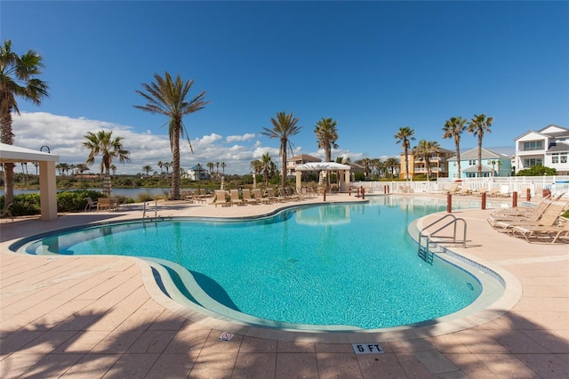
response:
[(95, 162), (95, 157), (101, 156), (100, 159), (100, 173), (104, 174), (103, 177), (103, 194), (107, 197), (110, 196), (111, 181), (110, 169), (113, 159), (118, 158), (120, 163), (130, 161), (129, 151), (123, 147), (123, 137), (113, 138), (113, 132), (105, 132), (100, 130), (97, 133), (86, 133), (84, 135), (86, 141), (83, 146), (89, 149), (89, 157), (85, 162), (87, 165), (92, 165)]

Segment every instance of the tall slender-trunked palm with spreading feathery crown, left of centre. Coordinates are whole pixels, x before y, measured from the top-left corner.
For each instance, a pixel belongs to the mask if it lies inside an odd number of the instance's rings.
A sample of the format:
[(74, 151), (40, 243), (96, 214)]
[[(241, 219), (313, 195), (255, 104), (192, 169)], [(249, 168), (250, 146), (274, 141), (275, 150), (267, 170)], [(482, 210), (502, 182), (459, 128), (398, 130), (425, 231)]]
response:
[(182, 122), (184, 116), (204, 109), (210, 101), (205, 101), (205, 91), (198, 93), (191, 101), (188, 101), (189, 90), (194, 84), (194, 80), (184, 82), (180, 74), (175, 81), (166, 71), (164, 77), (154, 75), (156, 83), (143, 84), (146, 93), (136, 91), (148, 103), (144, 106), (135, 105), (135, 108), (142, 109), (152, 114), (160, 114), (169, 118), (168, 134), (170, 135), (170, 147), (172, 149), (172, 198), (180, 198), (180, 136), (186, 136), (189, 149), (194, 152), (189, 141), (189, 134)]

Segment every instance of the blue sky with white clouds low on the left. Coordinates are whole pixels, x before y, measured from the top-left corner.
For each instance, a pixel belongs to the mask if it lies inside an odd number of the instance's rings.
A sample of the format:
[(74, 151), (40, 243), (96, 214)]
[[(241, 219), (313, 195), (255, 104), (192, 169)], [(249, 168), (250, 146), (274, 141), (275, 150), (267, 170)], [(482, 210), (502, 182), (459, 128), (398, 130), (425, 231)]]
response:
[[(284, 110), (299, 117), (295, 154), (324, 157), (314, 127), (338, 122), (333, 158), (398, 156), (402, 126), (442, 139), (450, 117), (494, 117), (487, 149), (530, 129), (569, 127), (567, 2), (21, 2), (2, 1), (1, 39), (44, 58), (50, 97), (20, 101), (16, 144), (47, 145), (83, 163), (84, 133), (124, 137), (132, 162), (171, 159), (164, 117), (135, 90), (155, 73), (194, 79), (212, 101), (184, 119), (195, 154), (182, 167), (225, 162), (248, 173), (278, 141), (260, 135)], [(190, 93), (191, 94), (191, 93)], [(463, 149), (477, 139), (465, 133)], [(92, 167), (98, 171), (98, 165)]]

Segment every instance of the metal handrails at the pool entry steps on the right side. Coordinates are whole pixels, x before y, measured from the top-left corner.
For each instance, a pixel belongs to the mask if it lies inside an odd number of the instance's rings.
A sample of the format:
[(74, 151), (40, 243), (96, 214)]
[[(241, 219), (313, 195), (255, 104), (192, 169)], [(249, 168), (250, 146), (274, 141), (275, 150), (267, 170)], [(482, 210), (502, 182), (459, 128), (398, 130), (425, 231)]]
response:
[[(450, 219), (450, 220), (449, 220)], [(457, 241), (456, 233), (457, 226), (461, 223), (463, 226), (462, 239)], [(453, 235), (437, 235), (437, 233), (447, 230), (449, 227), (453, 227)], [(437, 230), (428, 231), (432, 228), (438, 227)], [(423, 246), (423, 239), (425, 244)], [(433, 264), (434, 254), (431, 247), (437, 247), (440, 243), (460, 243), (462, 247), (466, 247), (466, 221), (461, 218), (457, 218), (454, 214), (445, 214), (443, 217), (439, 218), (435, 222), (429, 223), (426, 227), (421, 229), (419, 233), (419, 252), (417, 255), (425, 262)]]

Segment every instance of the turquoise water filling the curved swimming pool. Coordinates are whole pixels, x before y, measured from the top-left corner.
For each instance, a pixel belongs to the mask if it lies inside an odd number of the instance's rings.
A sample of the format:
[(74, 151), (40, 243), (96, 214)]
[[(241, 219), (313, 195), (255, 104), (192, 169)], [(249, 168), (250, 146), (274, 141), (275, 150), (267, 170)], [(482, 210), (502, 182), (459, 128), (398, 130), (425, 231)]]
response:
[(461, 310), (482, 291), (465, 270), (417, 256), (409, 222), (444, 209), (436, 199), (376, 197), (238, 222), (102, 225), (51, 235), (20, 251), (160, 258), (186, 268), (216, 302), (255, 318), (396, 327)]

